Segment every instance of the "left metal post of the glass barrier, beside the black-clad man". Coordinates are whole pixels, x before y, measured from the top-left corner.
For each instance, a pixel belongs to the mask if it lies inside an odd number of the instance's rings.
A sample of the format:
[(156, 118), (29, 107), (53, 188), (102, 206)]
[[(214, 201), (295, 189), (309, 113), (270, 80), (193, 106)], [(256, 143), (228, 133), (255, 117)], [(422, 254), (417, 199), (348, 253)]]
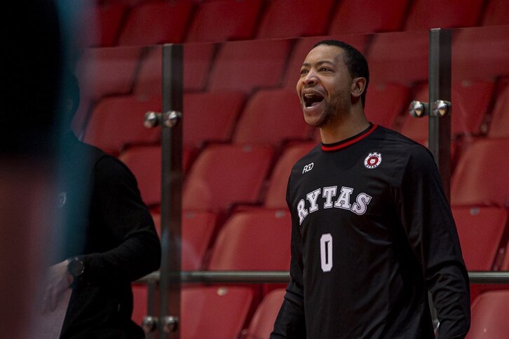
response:
[[(182, 219), (183, 47), (163, 45), (163, 123), (161, 123), (161, 281), (158, 338), (180, 338), (180, 247)], [(171, 317), (171, 318), (170, 318)], [(176, 326), (172, 326), (176, 325)]]

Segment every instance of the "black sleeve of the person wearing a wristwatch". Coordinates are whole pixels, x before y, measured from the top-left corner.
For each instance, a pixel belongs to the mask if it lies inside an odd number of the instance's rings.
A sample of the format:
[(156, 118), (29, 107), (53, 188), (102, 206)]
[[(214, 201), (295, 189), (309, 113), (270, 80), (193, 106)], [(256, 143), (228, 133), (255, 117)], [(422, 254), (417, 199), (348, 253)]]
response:
[(157, 270), (161, 243), (134, 175), (115, 158), (104, 156), (94, 168), (92, 206), (110, 238), (111, 248), (80, 256), (83, 280), (101, 284), (116, 279), (134, 281)]

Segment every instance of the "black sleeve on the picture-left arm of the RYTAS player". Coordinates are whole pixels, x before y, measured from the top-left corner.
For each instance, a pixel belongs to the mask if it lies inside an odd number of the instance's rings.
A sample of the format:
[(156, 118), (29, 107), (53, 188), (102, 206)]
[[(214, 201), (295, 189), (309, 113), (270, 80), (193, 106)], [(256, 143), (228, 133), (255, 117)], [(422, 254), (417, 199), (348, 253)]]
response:
[[(291, 177), (290, 177), (291, 179)], [(276, 317), (274, 330), (270, 338), (306, 338), (306, 321), (304, 317), (304, 287), (301, 233), (298, 216), (292, 210), (290, 204), (290, 179), (287, 185), (287, 205), (292, 214), (292, 240), (290, 261), (290, 283), (287, 286), (283, 305)]]

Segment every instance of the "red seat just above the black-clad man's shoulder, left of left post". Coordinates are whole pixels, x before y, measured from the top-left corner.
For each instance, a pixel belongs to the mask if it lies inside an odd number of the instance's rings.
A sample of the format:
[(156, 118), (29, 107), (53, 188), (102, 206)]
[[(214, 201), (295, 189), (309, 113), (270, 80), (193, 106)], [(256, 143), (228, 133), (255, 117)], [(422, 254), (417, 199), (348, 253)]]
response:
[(94, 107), (83, 141), (115, 155), (127, 145), (154, 143), (161, 130), (144, 127), (147, 111), (160, 112), (161, 98), (106, 97)]

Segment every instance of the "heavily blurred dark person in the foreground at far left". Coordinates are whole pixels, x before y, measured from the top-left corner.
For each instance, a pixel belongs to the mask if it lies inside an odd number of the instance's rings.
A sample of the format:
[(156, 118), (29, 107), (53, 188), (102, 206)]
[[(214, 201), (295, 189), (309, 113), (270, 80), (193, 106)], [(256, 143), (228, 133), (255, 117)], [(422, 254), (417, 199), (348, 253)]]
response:
[(30, 338), (30, 310), (51, 247), (61, 30), (52, 0), (1, 11), (0, 338)]

